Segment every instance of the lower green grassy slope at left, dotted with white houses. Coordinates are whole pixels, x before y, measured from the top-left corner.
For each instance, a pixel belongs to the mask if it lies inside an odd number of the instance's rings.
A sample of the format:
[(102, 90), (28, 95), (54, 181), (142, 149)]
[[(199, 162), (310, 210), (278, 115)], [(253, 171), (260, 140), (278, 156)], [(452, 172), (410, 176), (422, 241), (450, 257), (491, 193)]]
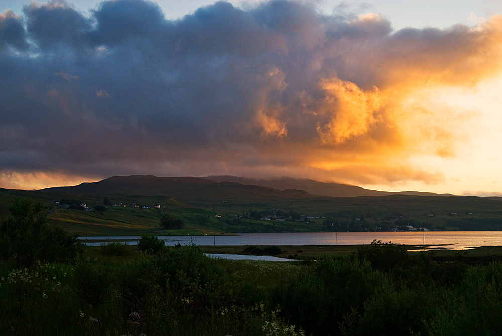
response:
[[(120, 235), (204, 235), (241, 232), (306, 232), (319, 231), (315, 225), (303, 222), (261, 221), (247, 218), (234, 220), (233, 210), (212, 210), (187, 205), (168, 196), (152, 196), (127, 193), (68, 194), (52, 191), (25, 191), (0, 189), (0, 212), (8, 214), (8, 206), (15, 197), (42, 199), (49, 211), (50, 223), (59, 225), (72, 234), (80, 236), (120, 236)], [(102, 205), (104, 198), (111, 204), (104, 211), (87, 212), (64, 208), (56, 201), (70, 200), (85, 203), (90, 208)], [(130, 207), (136, 203), (139, 207)], [(153, 207), (160, 204), (160, 208)], [(144, 209), (143, 205), (150, 208)], [(179, 230), (162, 230), (160, 218), (166, 212), (182, 219), (185, 227)], [(219, 216), (219, 217), (216, 217)]]

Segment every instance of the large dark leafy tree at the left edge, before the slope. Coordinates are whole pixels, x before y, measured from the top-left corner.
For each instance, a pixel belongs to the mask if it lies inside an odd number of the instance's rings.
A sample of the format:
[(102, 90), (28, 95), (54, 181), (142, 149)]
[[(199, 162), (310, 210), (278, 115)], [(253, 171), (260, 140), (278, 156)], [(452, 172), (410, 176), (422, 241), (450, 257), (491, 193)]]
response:
[(0, 257), (18, 267), (29, 267), (35, 260), (62, 261), (76, 256), (78, 240), (59, 227), (47, 224), (47, 211), (41, 200), (16, 198), (9, 206), (10, 216), (0, 222)]

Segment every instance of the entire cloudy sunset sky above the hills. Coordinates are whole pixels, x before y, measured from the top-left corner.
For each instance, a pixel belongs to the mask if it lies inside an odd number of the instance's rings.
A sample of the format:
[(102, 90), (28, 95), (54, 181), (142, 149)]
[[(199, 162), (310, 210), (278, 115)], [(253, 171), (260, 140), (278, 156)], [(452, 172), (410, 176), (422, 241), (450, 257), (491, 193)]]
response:
[(500, 1), (0, 13), (0, 187), (236, 175), (502, 195)]

